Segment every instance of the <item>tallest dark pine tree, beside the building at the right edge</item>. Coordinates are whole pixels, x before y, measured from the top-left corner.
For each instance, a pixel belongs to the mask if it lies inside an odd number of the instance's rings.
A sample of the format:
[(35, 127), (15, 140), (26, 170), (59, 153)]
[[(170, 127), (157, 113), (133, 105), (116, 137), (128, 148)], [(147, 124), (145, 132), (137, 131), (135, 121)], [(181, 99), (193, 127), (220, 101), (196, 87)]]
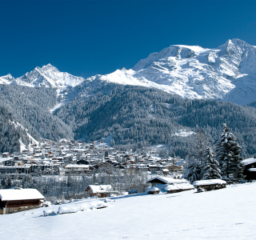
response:
[(239, 156), (242, 149), (235, 141), (234, 134), (223, 124), (223, 130), (218, 142), (216, 142), (216, 160), (219, 162), (222, 178), (228, 182), (242, 180), (242, 158)]

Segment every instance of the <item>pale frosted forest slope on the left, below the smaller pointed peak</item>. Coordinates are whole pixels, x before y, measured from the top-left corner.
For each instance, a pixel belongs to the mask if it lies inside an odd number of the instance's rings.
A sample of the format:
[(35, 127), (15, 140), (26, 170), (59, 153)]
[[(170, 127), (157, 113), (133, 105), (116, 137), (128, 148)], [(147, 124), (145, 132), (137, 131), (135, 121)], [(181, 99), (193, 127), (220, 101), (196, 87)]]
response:
[(73, 138), (70, 126), (50, 113), (57, 102), (56, 90), (0, 85), (0, 94), (0, 106), (10, 111), (36, 140)]

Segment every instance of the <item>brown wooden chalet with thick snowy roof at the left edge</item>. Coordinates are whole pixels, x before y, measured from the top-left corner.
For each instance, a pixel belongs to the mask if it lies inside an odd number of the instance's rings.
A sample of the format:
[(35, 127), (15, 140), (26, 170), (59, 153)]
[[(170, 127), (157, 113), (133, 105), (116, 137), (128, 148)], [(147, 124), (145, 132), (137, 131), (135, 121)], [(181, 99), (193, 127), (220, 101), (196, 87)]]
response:
[(2, 189), (0, 190), (0, 214), (26, 210), (28, 206), (40, 206), (44, 199), (36, 189)]

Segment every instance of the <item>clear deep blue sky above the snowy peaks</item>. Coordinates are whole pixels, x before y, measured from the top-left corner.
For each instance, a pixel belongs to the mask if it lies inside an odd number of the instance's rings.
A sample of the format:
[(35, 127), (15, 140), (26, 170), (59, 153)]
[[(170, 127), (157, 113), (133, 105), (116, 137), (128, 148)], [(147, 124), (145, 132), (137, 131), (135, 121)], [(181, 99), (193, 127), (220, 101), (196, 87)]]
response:
[(51, 63), (76, 76), (109, 74), (173, 44), (256, 46), (256, 1), (0, 3), (0, 76)]

